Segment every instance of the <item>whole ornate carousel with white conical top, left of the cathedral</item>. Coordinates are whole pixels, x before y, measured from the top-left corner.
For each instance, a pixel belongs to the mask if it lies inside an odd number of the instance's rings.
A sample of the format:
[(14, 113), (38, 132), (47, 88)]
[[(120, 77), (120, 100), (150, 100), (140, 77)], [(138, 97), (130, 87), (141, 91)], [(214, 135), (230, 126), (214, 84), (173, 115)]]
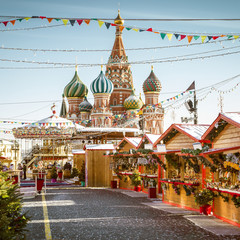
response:
[(23, 158), (28, 178), (43, 174), (52, 181), (63, 179), (63, 170), (64, 175), (70, 175), (73, 161), (70, 140), (76, 133), (76, 126), (56, 115), (55, 104), (51, 110), (50, 117), (12, 130), (16, 139), (37, 142)]

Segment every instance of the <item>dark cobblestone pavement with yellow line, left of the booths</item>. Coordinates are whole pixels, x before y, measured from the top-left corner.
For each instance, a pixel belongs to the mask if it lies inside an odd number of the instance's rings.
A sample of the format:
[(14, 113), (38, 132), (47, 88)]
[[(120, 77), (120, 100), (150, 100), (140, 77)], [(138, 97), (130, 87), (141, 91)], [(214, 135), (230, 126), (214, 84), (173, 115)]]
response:
[[(50, 189), (45, 195), (50, 236), (45, 237), (42, 196), (24, 201), (32, 216), (27, 239), (240, 239), (216, 236), (184, 218), (151, 208), (146, 197), (107, 189)], [(45, 217), (45, 221), (44, 221)]]

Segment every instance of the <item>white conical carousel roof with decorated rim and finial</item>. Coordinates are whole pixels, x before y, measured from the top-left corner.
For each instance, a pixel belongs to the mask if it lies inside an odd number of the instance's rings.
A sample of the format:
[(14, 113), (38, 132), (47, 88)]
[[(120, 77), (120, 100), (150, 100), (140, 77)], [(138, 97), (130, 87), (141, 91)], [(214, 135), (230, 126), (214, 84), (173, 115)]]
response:
[[(55, 105), (52, 107), (55, 107)], [(68, 138), (75, 132), (75, 124), (56, 115), (53, 110), (53, 115), (33, 122), (31, 124), (13, 128), (15, 138)]]

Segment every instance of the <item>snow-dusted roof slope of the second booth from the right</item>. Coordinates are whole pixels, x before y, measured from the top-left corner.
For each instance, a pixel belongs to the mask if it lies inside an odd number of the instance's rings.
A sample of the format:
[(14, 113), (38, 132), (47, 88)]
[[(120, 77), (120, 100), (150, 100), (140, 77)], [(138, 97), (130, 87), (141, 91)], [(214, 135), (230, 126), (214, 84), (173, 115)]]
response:
[(202, 135), (207, 131), (210, 125), (190, 125), (190, 124), (175, 124), (178, 128), (196, 138), (201, 140)]

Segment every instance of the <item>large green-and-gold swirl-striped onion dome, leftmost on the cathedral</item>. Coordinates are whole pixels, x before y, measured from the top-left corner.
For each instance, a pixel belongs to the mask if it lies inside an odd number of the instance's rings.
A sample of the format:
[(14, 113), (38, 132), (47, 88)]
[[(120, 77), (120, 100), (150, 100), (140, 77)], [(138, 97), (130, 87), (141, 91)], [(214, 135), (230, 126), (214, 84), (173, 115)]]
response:
[(71, 97), (84, 97), (88, 94), (87, 86), (80, 80), (77, 74), (77, 66), (75, 70), (75, 74), (71, 82), (69, 82), (64, 88), (63, 94), (67, 98)]

